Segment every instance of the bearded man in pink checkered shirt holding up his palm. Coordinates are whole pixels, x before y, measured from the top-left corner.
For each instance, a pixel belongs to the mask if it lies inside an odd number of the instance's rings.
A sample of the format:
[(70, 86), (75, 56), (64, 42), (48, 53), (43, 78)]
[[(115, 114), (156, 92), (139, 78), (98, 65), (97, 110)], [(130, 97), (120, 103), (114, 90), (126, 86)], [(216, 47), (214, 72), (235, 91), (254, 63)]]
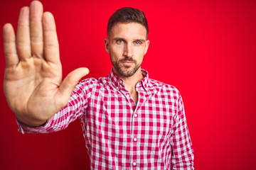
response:
[(52, 14), (39, 1), (21, 8), (16, 40), (4, 26), (4, 92), (19, 130), (55, 132), (80, 118), (91, 169), (193, 169), (181, 95), (141, 68), (148, 33), (142, 11), (117, 10), (105, 39), (112, 71), (76, 85), (88, 69), (61, 82)]

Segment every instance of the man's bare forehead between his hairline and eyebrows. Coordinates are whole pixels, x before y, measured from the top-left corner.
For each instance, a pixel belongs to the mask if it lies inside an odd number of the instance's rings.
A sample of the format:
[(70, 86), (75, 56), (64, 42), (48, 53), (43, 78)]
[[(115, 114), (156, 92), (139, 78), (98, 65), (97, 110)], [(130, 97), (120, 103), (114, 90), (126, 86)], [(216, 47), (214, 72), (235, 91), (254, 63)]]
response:
[(140, 23), (116, 23), (110, 38), (146, 39), (146, 28)]

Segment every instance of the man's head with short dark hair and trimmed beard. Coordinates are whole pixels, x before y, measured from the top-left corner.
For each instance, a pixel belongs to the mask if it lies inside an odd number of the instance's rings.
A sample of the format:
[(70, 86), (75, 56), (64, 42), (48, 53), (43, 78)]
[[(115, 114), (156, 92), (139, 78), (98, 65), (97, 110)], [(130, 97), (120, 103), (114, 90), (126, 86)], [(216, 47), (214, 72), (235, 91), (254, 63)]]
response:
[(121, 8), (110, 17), (105, 50), (110, 54), (114, 73), (132, 77), (140, 70), (149, 47), (148, 33), (146, 17), (138, 9)]

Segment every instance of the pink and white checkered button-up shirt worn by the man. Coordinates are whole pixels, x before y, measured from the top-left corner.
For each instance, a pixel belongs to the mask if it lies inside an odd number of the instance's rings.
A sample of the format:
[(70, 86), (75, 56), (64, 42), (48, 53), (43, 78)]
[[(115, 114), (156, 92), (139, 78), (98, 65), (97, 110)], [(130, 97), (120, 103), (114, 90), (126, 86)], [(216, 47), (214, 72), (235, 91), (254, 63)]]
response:
[(80, 118), (91, 169), (193, 169), (193, 147), (181, 95), (174, 86), (149, 79), (136, 86), (138, 103), (114, 72), (85, 79), (65, 108), (46, 125), (19, 131), (56, 132)]

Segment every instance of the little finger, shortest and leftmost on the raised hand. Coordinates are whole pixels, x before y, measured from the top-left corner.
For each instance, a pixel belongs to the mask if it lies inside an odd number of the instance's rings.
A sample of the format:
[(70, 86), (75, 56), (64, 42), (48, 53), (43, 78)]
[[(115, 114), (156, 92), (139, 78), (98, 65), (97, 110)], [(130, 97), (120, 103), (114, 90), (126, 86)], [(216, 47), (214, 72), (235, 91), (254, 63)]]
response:
[(3, 28), (4, 33), (4, 56), (6, 58), (6, 68), (16, 67), (19, 62), (16, 52), (14, 28), (10, 23), (6, 23)]

